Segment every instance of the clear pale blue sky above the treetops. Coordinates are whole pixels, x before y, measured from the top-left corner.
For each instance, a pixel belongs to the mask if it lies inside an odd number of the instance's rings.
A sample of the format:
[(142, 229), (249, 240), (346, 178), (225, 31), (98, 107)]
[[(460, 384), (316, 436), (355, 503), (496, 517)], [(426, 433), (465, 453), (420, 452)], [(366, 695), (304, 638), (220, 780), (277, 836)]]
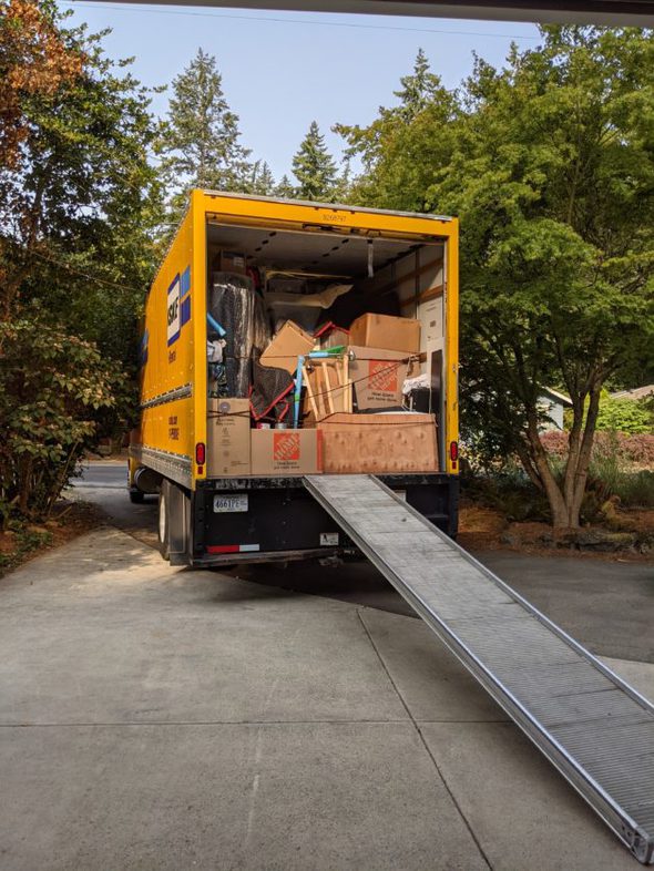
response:
[[(443, 83), (456, 86), (472, 66), (472, 52), (501, 64), (511, 38), (538, 44), (533, 24), (391, 18), (242, 9), (59, 3), (73, 22), (112, 28), (112, 58), (134, 57), (133, 72), (147, 85), (167, 84), (198, 48), (215, 54), (223, 90), (241, 119), (243, 144), (267, 160), (275, 177), (290, 172), (294, 152), (316, 120), (336, 157), (336, 122), (366, 124), (379, 105), (394, 103), (401, 75), (422, 48)], [(165, 115), (167, 95), (153, 111)]]

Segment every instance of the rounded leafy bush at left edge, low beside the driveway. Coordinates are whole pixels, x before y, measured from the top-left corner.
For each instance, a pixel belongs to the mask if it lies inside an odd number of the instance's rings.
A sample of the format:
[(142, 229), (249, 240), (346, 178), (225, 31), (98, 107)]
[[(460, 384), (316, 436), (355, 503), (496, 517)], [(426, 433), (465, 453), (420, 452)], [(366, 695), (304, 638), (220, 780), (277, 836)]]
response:
[(115, 362), (39, 316), (0, 324), (0, 527), (48, 516), (115, 404)]

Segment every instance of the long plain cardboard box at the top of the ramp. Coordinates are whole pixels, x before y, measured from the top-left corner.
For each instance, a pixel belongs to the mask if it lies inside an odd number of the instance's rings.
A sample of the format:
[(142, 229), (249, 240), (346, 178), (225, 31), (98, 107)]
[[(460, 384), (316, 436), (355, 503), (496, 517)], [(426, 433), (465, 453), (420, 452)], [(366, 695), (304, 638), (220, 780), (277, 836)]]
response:
[(437, 472), (433, 414), (331, 414), (323, 433), (326, 474)]

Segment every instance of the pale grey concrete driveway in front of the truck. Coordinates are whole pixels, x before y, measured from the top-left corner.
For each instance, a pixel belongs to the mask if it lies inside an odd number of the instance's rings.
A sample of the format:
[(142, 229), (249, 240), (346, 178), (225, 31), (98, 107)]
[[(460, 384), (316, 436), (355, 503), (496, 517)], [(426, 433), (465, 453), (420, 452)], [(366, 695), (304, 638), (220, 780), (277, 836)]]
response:
[(3, 871), (637, 867), (422, 623), (111, 526), (0, 582), (0, 782)]

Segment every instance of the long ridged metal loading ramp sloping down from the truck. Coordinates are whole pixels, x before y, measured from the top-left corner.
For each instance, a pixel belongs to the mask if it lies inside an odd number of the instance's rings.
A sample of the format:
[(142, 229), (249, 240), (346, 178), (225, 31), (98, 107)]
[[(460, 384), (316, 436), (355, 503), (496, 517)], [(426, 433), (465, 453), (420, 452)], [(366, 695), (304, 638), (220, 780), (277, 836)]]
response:
[(643, 862), (654, 860), (654, 707), (374, 475), (305, 485)]

